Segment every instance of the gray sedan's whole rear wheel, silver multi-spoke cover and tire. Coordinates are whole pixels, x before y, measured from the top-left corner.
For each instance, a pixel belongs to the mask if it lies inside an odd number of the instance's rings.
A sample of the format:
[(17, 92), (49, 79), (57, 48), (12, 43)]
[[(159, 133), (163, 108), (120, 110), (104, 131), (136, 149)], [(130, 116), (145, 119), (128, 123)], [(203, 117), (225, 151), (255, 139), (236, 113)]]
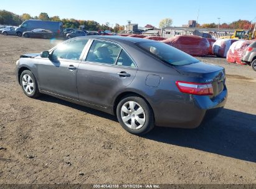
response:
[(141, 135), (154, 127), (154, 115), (149, 104), (139, 96), (126, 96), (116, 108), (121, 126), (131, 134)]

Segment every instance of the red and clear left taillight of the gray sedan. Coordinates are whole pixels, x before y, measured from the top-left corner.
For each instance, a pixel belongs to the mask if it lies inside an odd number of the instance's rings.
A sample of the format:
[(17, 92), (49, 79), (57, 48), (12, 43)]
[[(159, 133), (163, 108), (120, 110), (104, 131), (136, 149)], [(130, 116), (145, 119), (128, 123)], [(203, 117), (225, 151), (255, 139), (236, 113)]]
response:
[(179, 91), (182, 93), (196, 95), (212, 95), (212, 83), (193, 83), (186, 81), (176, 81)]

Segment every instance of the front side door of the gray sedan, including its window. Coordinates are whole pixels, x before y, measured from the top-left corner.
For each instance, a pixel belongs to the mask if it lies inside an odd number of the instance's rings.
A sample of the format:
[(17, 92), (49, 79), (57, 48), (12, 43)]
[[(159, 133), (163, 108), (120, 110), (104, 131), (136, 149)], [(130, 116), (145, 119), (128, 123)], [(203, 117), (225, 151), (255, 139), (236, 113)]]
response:
[(50, 58), (40, 58), (38, 76), (40, 90), (78, 99), (77, 68), (82, 60), (87, 39), (75, 39), (57, 46)]

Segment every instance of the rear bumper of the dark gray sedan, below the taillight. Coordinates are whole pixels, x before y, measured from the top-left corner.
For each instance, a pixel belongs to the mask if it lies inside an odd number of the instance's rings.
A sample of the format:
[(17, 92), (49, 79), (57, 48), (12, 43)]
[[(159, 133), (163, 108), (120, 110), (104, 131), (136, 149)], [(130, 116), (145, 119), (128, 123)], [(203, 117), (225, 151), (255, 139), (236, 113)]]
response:
[[(178, 103), (165, 102), (161, 106), (161, 113), (155, 113), (157, 126), (179, 127), (193, 129), (202, 121), (206, 122), (215, 118), (224, 108), (227, 101), (227, 88), (215, 98), (186, 94), (188, 98)], [(182, 103), (182, 104), (181, 104)]]

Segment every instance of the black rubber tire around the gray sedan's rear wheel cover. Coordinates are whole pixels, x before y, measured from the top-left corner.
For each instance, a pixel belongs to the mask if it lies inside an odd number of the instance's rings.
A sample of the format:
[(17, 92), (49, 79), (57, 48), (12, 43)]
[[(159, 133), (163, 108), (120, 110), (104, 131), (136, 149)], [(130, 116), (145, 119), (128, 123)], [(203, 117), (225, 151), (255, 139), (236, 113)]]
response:
[[(134, 101), (135, 103), (138, 103), (141, 106), (141, 108), (143, 108), (144, 110), (145, 123), (139, 129), (131, 129), (130, 127), (126, 126), (125, 122), (121, 118), (121, 108), (125, 103), (128, 103), (129, 101)], [(151, 129), (153, 129), (154, 127), (153, 110), (151, 109), (149, 104), (145, 101), (145, 99), (141, 98), (140, 96), (125, 96), (124, 98), (122, 98), (116, 107), (116, 116), (117, 116), (118, 122), (120, 122), (123, 129), (130, 132), (131, 134), (143, 135), (151, 131)]]

